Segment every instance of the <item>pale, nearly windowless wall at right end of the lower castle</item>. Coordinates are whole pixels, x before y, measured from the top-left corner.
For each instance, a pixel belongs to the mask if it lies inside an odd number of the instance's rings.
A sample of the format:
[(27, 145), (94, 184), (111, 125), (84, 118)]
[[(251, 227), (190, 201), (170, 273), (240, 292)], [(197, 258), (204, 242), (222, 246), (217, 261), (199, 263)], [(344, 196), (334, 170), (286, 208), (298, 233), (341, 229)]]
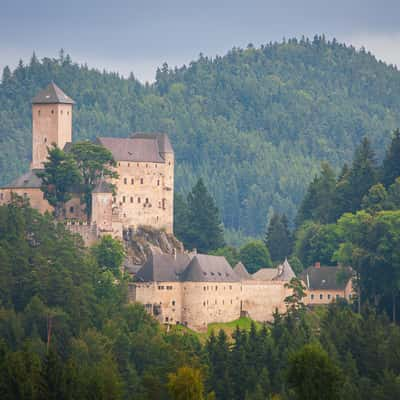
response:
[(291, 290), (280, 281), (243, 281), (242, 310), (256, 321), (270, 321), (276, 309), (286, 311), (285, 297)]

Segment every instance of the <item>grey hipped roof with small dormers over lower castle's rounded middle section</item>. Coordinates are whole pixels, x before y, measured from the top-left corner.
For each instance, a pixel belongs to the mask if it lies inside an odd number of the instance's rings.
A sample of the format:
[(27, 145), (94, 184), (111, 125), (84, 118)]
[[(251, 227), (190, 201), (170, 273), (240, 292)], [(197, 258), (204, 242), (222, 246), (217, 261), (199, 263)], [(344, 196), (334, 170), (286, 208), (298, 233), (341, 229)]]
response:
[(182, 274), (182, 281), (189, 282), (238, 282), (225, 257), (197, 254)]

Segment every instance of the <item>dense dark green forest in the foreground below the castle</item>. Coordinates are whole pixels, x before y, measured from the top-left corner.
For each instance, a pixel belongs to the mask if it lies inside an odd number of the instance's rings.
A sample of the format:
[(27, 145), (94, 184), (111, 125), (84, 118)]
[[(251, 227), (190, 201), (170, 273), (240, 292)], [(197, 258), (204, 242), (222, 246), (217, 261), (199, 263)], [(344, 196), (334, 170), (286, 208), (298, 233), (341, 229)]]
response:
[(123, 248), (91, 249), (22, 199), (0, 207), (0, 397), (317, 400), (400, 396), (400, 328), (372, 306), (307, 310), (292, 282), (268, 325), (165, 330), (127, 305)]

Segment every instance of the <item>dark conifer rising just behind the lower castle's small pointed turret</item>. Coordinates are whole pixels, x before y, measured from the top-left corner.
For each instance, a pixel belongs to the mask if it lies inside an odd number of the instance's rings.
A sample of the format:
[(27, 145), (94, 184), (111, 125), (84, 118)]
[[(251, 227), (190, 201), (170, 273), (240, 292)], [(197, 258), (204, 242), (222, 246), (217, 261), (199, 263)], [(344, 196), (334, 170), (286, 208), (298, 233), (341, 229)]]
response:
[(272, 216), (264, 243), (269, 250), (273, 262), (280, 262), (292, 251), (292, 236), (289, 231), (286, 215), (274, 213)]

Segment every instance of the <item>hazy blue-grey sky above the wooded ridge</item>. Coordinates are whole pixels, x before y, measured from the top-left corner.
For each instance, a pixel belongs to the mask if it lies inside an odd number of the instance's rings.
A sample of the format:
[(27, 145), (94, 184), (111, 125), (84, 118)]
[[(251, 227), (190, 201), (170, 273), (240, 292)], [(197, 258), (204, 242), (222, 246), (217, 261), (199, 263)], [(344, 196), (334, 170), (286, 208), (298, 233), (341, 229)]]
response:
[(164, 61), (315, 33), (400, 66), (399, 17), (400, 0), (0, 0), (0, 68), (64, 48), (76, 62), (151, 81)]

